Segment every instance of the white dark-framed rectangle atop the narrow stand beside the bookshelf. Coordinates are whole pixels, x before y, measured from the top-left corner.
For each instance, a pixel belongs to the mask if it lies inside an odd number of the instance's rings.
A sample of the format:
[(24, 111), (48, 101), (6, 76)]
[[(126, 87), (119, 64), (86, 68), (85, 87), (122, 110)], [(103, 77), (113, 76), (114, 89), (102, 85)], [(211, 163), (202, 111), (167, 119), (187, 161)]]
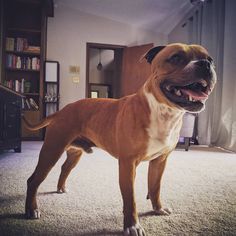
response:
[(45, 82), (58, 82), (59, 63), (45, 61)]

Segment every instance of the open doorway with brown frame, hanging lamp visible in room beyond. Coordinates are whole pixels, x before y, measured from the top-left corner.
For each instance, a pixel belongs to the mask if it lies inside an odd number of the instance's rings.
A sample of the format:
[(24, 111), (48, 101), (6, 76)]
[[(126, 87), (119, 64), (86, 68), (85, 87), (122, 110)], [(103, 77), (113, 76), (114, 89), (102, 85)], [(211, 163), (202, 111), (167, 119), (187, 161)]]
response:
[(125, 46), (87, 43), (86, 97), (121, 96), (122, 55)]

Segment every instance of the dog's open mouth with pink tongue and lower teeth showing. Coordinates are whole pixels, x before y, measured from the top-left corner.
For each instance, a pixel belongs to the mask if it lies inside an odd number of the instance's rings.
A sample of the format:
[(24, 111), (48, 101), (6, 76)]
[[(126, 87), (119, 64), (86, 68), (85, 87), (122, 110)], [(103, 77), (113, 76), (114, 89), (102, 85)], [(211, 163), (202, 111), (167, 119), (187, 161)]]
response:
[(205, 79), (199, 79), (184, 85), (164, 82), (161, 89), (171, 102), (188, 111), (201, 110), (211, 92), (211, 87)]

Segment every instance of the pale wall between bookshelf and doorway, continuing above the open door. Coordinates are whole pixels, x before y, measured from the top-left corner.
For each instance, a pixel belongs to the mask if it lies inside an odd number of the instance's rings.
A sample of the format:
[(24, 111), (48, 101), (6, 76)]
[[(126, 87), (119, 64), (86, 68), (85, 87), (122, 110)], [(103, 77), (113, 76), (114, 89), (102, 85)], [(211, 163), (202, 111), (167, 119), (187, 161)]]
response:
[[(47, 59), (60, 63), (60, 107), (85, 97), (87, 42), (159, 45), (167, 37), (65, 6), (55, 8), (54, 18), (48, 19)], [(69, 78), (69, 65), (80, 66), (78, 84)]]

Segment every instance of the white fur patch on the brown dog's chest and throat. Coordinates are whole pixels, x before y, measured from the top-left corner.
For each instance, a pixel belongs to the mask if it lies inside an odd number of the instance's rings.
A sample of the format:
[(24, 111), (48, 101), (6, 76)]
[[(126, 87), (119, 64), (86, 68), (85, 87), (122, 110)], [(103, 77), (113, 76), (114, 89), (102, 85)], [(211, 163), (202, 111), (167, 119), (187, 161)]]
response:
[(153, 160), (175, 147), (184, 112), (159, 103), (152, 93), (145, 92), (145, 96), (151, 110), (145, 160)]

